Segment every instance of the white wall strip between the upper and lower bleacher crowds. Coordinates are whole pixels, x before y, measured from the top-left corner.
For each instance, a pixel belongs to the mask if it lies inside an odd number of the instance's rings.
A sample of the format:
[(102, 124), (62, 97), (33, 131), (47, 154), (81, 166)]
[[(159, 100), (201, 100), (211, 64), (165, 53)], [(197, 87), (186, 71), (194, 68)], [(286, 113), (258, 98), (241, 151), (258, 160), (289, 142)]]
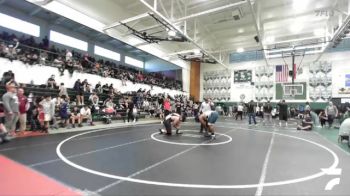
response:
[[(98, 75), (78, 73), (74, 72), (70, 77), (68, 71), (66, 70), (63, 76), (60, 76), (60, 73), (57, 68), (40, 66), (40, 65), (25, 65), (20, 61), (10, 62), (8, 59), (0, 58), (0, 75), (4, 72), (12, 70), (15, 73), (15, 79), (19, 83), (29, 84), (31, 81), (36, 85), (46, 84), (47, 79), (51, 75), (55, 75), (55, 80), (57, 83), (63, 82), (66, 87), (72, 88), (77, 79), (87, 79), (90, 84), (94, 87), (99, 81), (102, 84), (113, 83), (113, 86), (117, 88), (122, 93), (128, 91), (137, 91), (138, 89), (151, 89), (151, 86), (146, 84), (133, 84), (132, 82), (127, 82), (127, 86), (122, 86), (121, 81), (114, 78), (104, 78)], [(188, 96), (188, 93), (182, 93), (181, 91), (164, 89), (157, 86), (153, 87), (151, 94), (166, 93), (171, 96), (177, 94), (184, 94)]]

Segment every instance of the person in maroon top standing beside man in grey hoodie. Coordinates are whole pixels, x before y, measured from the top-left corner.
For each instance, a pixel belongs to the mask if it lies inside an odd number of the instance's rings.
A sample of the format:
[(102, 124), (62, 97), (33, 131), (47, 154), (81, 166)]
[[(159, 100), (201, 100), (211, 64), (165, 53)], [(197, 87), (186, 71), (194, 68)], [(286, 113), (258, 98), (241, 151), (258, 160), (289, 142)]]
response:
[(29, 109), (28, 99), (24, 96), (23, 88), (19, 88), (17, 92), (19, 101), (19, 131), (23, 133), (27, 125), (27, 110)]

